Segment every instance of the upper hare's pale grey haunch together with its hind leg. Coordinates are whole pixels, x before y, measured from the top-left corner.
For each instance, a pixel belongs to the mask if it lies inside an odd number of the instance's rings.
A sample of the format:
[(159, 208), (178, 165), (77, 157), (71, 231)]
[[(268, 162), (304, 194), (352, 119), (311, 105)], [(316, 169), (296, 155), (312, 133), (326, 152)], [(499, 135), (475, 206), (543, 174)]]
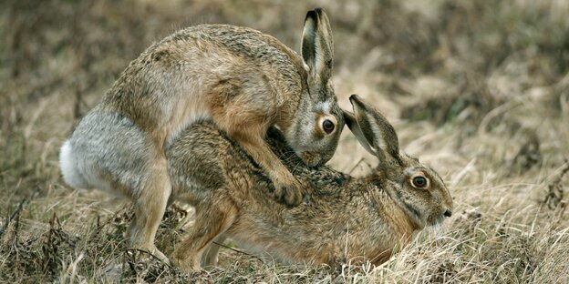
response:
[(135, 218), (127, 232), (131, 246), (168, 260), (154, 245), (171, 195), (163, 151), (155, 149), (129, 118), (98, 108), (81, 120), (68, 143), (63, 157), (71, 158), (68, 162), (90, 187), (108, 189), (132, 201)]

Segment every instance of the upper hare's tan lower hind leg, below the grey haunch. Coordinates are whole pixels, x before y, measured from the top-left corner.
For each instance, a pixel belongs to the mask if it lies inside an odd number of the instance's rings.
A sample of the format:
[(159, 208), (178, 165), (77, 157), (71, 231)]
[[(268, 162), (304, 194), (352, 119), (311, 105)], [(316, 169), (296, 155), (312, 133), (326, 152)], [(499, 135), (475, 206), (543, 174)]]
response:
[(168, 262), (168, 258), (156, 248), (154, 240), (171, 195), (171, 182), (166, 161), (152, 161), (149, 176), (144, 178), (139, 196), (133, 198), (134, 218), (128, 236), (132, 247), (148, 250), (155, 257)]

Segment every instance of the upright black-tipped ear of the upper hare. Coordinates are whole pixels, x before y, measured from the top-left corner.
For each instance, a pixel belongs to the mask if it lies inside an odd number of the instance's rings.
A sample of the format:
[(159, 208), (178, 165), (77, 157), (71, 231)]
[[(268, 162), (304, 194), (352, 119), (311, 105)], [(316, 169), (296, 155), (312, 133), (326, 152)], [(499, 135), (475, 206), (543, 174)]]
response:
[(301, 46), (309, 78), (326, 84), (334, 65), (334, 41), (328, 16), (321, 8), (306, 13)]

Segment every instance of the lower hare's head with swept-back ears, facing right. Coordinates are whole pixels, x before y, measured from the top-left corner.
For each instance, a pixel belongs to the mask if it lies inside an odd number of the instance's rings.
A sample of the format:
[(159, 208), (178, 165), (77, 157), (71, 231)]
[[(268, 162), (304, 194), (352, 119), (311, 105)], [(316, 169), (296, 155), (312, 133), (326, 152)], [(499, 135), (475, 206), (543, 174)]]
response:
[(379, 159), (374, 172), (378, 188), (395, 200), (417, 228), (436, 225), (452, 214), (452, 198), (430, 167), (399, 152), (398, 137), (386, 117), (357, 95), (350, 96), (354, 114), (345, 112), (347, 126), (368, 152)]

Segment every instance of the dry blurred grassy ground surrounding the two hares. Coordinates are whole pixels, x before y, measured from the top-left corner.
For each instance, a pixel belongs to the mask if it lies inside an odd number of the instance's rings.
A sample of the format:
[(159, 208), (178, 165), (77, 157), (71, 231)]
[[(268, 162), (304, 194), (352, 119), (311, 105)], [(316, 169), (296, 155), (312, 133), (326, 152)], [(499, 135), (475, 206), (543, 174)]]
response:
[[(153, 3), (0, 4), (0, 282), (569, 282), (569, 3)], [(403, 149), (449, 184), (457, 214), (437, 231), (375, 269), (222, 249), (221, 268), (188, 275), (127, 249), (128, 204), (64, 185), (58, 147), (152, 41), (227, 23), (297, 49), (315, 6), (333, 25), (341, 106), (352, 93), (374, 101)], [(346, 131), (331, 165), (361, 175), (367, 163)], [(185, 216), (169, 209), (159, 248), (171, 252)]]

